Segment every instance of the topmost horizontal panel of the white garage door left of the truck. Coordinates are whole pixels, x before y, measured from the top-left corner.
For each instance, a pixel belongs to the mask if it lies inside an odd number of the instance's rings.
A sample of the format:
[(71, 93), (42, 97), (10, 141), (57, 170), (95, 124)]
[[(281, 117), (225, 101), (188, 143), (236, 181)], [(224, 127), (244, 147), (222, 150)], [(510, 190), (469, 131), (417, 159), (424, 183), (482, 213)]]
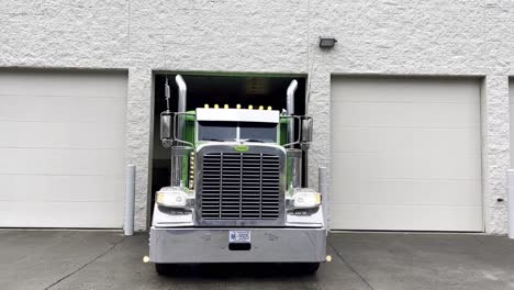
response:
[(0, 71), (0, 96), (111, 98), (126, 92), (126, 76), (94, 71)]

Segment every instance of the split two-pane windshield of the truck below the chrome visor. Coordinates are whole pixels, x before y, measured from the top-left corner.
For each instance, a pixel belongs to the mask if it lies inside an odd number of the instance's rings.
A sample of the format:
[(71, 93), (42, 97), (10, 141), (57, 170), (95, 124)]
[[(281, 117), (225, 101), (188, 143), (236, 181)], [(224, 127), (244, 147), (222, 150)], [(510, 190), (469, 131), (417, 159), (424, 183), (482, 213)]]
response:
[(199, 141), (277, 142), (277, 124), (258, 122), (202, 121), (198, 126)]

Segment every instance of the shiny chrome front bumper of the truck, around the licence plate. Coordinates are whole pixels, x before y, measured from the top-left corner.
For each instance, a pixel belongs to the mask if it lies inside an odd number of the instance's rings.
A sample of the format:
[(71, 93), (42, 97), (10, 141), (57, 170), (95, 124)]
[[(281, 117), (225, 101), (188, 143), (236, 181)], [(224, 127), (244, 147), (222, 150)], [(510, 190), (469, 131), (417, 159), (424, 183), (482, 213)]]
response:
[[(230, 230), (252, 231), (250, 249), (231, 250)], [(324, 227), (150, 228), (153, 263), (315, 263), (325, 257)]]

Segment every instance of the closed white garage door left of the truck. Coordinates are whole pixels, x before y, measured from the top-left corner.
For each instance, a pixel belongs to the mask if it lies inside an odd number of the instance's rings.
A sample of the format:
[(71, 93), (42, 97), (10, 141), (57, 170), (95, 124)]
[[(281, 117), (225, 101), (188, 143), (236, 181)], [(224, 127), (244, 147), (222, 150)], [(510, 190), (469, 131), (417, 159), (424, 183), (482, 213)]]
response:
[(121, 227), (126, 75), (0, 70), (0, 226)]

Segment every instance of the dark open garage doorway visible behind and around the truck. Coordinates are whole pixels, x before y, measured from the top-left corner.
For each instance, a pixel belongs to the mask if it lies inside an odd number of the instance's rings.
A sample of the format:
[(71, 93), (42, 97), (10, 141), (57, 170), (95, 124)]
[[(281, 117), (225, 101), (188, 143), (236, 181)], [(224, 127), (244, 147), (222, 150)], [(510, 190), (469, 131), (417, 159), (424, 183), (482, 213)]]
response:
[[(166, 110), (165, 82), (168, 78), (170, 85), (170, 110), (177, 111), (178, 88), (175, 83), (176, 74), (156, 74), (154, 77), (154, 123), (153, 123), (153, 154), (152, 154), (152, 187), (149, 204), (154, 204), (155, 192), (169, 186), (170, 179), (170, 149), (161, 145), (159, 138), (159, 115)], [(220, 75), (188, 75), (182, 74), (187, 83), (187, 111), (203, 108), (209, 104), (213, 108), (228, 105), (242, 108), (253, 105), (258, 109), (271, 107), (273, 110), (286, 109), (286, 91), (293, 79), (298, 81), (294, 99), (294, 112), (305, 113), (305, 76), (220, 76)], [(305, 174), (303, 175), (305, 177)], [(153, 205), (150, 205), (150, 211)]]

